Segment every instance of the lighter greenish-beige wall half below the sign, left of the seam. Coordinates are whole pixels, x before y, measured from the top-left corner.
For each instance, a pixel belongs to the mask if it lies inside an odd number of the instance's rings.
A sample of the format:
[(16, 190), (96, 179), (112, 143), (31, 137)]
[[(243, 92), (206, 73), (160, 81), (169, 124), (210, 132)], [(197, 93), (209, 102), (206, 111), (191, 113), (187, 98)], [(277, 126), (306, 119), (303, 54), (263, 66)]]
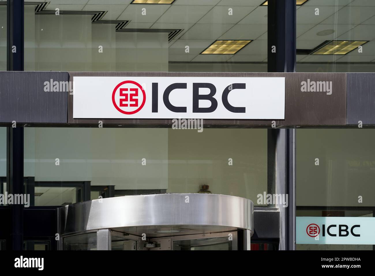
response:
[(24, 145), (25, 176), (35, 176), (35, 181), (91, 181), (92, 185), (115, 185), (115, 189), (167, 189), (166, 129), (25, 128)]

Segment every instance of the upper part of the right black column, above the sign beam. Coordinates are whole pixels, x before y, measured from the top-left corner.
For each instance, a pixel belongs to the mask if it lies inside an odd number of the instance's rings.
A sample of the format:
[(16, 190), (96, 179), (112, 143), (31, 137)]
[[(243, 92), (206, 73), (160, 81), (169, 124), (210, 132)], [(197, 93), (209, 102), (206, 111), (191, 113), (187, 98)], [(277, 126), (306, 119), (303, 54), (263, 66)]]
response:
[(268, 72), (296, 70), (296, 0), (268, 1)]

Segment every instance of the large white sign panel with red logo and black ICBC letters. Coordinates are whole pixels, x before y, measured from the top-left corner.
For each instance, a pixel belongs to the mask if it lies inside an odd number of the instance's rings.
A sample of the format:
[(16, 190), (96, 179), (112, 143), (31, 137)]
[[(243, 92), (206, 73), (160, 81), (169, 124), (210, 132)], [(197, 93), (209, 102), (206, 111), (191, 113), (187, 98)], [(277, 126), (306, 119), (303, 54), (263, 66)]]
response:
[(285, 119), (284, 77), (74, 77), (73, 118)]

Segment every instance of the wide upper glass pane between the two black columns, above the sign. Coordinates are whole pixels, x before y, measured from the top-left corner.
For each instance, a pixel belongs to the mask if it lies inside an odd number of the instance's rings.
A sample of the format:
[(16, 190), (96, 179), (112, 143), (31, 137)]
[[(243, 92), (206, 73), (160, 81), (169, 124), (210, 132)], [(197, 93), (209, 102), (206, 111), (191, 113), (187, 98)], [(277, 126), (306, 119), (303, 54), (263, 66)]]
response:
[(25, 71), (266, 72), (263, 2), (25, 2)]

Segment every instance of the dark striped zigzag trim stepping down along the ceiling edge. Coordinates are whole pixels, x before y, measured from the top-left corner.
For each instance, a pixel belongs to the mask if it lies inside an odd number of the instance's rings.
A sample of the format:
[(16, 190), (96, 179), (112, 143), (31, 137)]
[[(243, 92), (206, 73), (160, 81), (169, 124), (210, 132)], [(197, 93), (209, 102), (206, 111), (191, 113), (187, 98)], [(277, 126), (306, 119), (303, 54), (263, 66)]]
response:
[[(47, 11), (46, 8), (50, 2), (25, 2), (25, 5), (36, 5), (35, 14), (51, 14), (54, 15), (55, 11)], [(6, 5), (6, 2), (0, 2), (0, 5)], [(102, 20), (101, 18), (107, 14), (108, 11), (59, 11), (60, 14), (80, 14), (80, 15), (92, 15), (91, 23), (105, 23), (105, 24), (116, 24), (116, 32), (152, 32), (168, 33), (168, 41), (171, 41), (177, 36), (182, 29), (125, 29), (125, 26), (130, 22), (129, 20)]]

